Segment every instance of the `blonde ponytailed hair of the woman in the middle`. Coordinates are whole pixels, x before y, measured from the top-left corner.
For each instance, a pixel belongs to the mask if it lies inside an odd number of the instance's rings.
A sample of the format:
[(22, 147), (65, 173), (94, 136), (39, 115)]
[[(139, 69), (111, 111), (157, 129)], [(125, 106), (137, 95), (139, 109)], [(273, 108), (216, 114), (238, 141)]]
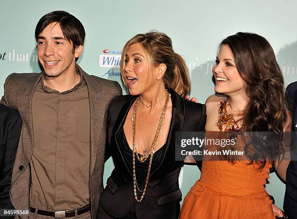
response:
[(137, 34), (124, 46), (121, 57), (121, 75), (124, 84), (127, 86), (127, 79), (124, 73), (126, 52), (134, 43), (140, 43), (148, 57), (148, 63), (152, 66), (166, 65), (163, 77), (165, 86), (172, 88), (181, 96), (188, 95), (191, 90), (191, 81), (188, 68), (184, 59), (173, 51), (172, 41), (166, 34), (151, 31), (146, 34)]

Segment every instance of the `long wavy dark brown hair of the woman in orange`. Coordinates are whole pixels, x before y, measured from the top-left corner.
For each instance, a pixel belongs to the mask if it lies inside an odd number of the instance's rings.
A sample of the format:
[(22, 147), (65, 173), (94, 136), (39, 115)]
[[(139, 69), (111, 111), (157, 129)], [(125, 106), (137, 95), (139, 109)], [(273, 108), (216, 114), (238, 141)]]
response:
[[(253, 132), (254, 137), (261, 135), (260, 132), (274, 132), (274, 136), (282, 139), (289, 113), (283, 75), (271, 45), (263, 36), (242, 32), (228, 36), (219, 48), (222, 45), (230, 47), (237, 70), (247, 84), (249, 102), (242, 118), (245, 131)], [(246, 147), (251, 162), (255, 160), (263, 168), (267, 158), (270, 161), (281, 159), (283, 144), (269, 142), (271, 139), (265, 140), (263, 135), (258, 140)]]

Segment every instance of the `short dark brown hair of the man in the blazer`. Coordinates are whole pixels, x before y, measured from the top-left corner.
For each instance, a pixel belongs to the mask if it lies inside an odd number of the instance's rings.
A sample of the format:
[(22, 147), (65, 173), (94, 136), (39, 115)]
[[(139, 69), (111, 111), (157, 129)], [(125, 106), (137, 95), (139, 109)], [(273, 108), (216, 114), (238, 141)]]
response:
[(65, 38), (73, 44), (73, 52), (76, 47), (83, 45), (85, 32), (81, 21), (65, 11), (53, 11), (40, 18), (35, 28), (36, 41), (39, 34), (53, 22), (60, 24)]

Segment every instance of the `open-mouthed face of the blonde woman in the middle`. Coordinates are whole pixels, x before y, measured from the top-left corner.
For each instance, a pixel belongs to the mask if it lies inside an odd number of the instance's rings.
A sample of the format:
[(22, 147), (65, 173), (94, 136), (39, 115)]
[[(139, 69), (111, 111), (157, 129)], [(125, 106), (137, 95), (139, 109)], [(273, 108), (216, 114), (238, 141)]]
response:
[(130, 45), (124, 61), (124, 78), (131, 95), (143, 94), (158, 81), (153, 77), (156, 68), (149, 65), (148, 57), (141, 44)]

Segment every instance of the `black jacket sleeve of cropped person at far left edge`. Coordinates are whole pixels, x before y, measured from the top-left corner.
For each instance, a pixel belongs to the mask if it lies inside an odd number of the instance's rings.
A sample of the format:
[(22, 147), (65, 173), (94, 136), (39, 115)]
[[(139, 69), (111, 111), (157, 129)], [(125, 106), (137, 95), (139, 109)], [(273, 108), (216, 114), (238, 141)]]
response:
[(18, 112), (0, 104), (0, 209), (14, 208), (9, 189), (21, 128)]

